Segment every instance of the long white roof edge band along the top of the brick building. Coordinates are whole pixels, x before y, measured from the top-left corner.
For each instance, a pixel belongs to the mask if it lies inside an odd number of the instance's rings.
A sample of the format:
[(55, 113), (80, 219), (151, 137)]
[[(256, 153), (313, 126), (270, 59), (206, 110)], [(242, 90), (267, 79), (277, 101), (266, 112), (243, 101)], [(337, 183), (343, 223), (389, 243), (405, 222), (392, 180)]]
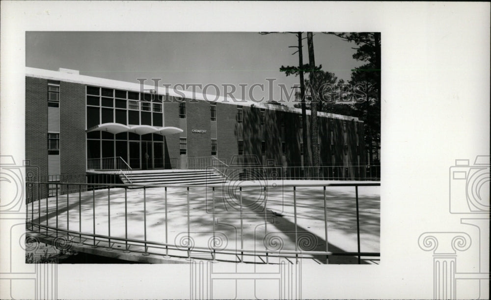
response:
[[(35, 77), (35, 78), (44, 78), (44, 79), (49, 79), (49, 80), (60, 80), (60, 81), (80, 83), (80, 84), (86, 84), (86, 85), (103, 86), (103, 87), (109, 87), (109, 88), (113, 88), (113, 89), (134, 91), (134, 92), (138, 92), (138, 93), (141, 92), (139, 83), (113, 80), (113, 79), (100, 78), (100, 77), (93, 77), (93, 76), (80, 75), (80, 74), (71, 74), (71, 73), (65, 73), (65, 72), (60, 72), (60, 71), (52, 71), (52, 70), (26, 67), (26, 76)], [(155, 86), (144, 84), (143, 88), (146, 90), (154, 90)], [(242, 105), (242, 106), (249, 106), (249, 107), (254, 106), (254, 107), (258, 107), (258, 108), (292, 112), (292, 113), (299, 113), (299, 114), (301, 114), (301, 112), (302, 112), (302, 110), (300, 108), (295, 108), (295, 107), (282, 106), (282, 105), (276, 105), (276, 104), (268, 104), (268, 103), (255, 103), (254, 101), (247, 101), (247, 100), (243, 100), (243, 99), (229, 98), (229, 97), (222, 97), (222, 96), (218, 96), (218, 99), (217, 99), (216, 95), (193, 93), (193, 92), (186, 91), (186, 90), (171, 89), (171, 88), (166, 88), (163, 86), (158, 87), (157, 94), (158, 95), (171, 96), (171, 97), (179, 97), (179, 98), (182, 98), (182, 96), (184, 95), (184, 97), (186, 99), (203, 100), (203, 101), (209, 101), (209, 102), (220, 102), (220, 103)], [(215, 100), (215, 99), (217, 99), (217, 100)], [(310, 115), (310, 110), (307, 109), (306, 114)], [(326, 112), (317, 112), (317, 116), (326, 117), (326, 118), (333, 118), (333, 119), (348, 120), (348, 121), (353, 120), (353, 121), (363, 123), (363, 121), (358, 120), (357, 117), (338, 115), (338, 114), (332, 114), (332, 113), (326, 113)]]

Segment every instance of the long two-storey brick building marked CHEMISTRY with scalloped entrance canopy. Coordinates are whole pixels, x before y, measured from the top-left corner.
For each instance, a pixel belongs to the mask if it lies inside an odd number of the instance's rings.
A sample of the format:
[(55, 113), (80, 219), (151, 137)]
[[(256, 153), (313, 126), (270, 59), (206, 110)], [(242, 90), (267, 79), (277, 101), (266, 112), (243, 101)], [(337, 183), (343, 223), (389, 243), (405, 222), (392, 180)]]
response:
[[(134, 170), (201, 168), (211, 157), (224, 164), (253, 157), (264, 167), (303, 167), (309, 111), (302, 128), (300, 109), (205, 96), (27, 68), (26, 159), (40, 175), (53, 176), (118, 169), (109, 159), (115, 157)], [(366, 164), (362, 122), (328, 113), (318, 120), (314, 155), (321, 166)]]

